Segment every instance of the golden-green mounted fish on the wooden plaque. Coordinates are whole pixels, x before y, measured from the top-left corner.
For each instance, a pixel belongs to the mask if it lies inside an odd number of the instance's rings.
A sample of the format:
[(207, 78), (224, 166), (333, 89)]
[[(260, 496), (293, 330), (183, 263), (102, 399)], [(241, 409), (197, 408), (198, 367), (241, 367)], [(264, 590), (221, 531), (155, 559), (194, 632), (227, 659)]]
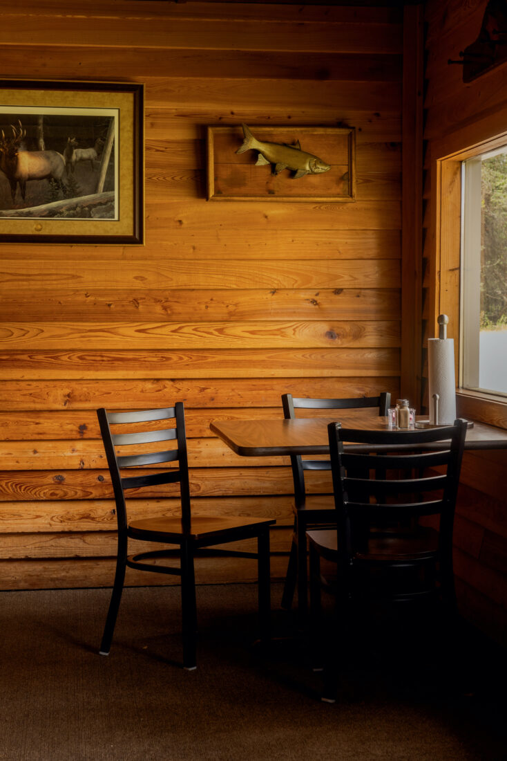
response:
[(241, 126), (245, 140), (236, 153), (258, 151), (256, 167), (271, 164), (273, 174), (279, 174), (284, 169), (290, 169), (294, 173), (293, 178), (295, 180), (299, 177), (304, 177), (305, 174), (322, 174), (322, 172), (327, 172), (331, 169), (331, 166), (322, 161), (322, 158), (302, 151), (299, 140), (296, 142), (296, 145), (262, 142), (252, 135), (246, 124)]

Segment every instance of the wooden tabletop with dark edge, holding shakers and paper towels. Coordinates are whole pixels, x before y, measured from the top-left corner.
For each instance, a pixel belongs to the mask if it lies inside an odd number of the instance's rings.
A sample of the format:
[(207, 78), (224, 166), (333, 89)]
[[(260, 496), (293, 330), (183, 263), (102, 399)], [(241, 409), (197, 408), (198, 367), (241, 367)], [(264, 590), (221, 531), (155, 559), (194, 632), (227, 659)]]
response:
[[(328, 423), (337, 419), (344, 428), (376, 431), (388, 429), (387, 418), (375, 416), (369, 410), (344, 411), (339, 418), (214, 420), (210, 428), (236, 454), (243, 457), (328, 454)], [(417, 416), (417, 419), (423, 420), (425, 417)], [(361, 445), (350, 448), (360, 449)], [(474, 422), (474, 427), (467, 430), (464, 448), (507, 449), (507, 431)]]

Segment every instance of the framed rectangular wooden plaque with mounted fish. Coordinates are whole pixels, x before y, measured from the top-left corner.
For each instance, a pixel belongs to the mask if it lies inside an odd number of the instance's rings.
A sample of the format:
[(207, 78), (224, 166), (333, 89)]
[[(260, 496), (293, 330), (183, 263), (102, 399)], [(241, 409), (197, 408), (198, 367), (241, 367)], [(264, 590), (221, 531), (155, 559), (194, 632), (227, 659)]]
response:
[(208, 200), (353, 201), (351, 127), (208, 127)]

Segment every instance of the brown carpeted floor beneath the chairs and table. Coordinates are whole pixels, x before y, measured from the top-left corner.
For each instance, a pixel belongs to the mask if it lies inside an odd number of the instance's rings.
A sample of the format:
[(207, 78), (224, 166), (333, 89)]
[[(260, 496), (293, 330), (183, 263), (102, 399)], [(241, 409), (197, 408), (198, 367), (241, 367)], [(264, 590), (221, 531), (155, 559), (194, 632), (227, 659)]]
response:
[(294, 621), (280, 594), (274, 585), (280, 639), (262, 653), (255, 586), (199, 587), (198, 669), (186, 672), (178, 587), (125, 590), (109, 657), (97, 654), (109, 590), (0, 593), (0, 759), (507, 758), (496, 648), (465, 631), (458, 685), (438, 649), (420, 654), (416, 629), (377, 622), (344, 656), (340, 700), (326, 705), (306, 639), (284, 638)]

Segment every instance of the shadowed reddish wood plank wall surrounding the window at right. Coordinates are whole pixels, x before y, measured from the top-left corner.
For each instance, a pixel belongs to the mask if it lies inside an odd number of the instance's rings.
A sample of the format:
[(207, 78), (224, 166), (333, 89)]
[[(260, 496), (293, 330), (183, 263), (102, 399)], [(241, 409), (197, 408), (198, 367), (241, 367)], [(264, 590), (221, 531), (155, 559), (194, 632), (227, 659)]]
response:
[[(467, 148), (458, 144), (459, 137), (455, 135), (478, 134), (474, 127), (477, 123), (482, 123), (482, 139), (505, 130), (505, 120), (499, 127), (495, 114), (507, 107), (507, 66), (500, 65), (470, 84), (464, 84), (463, 67), (448, 65), (448, 59), (459, 59), (459, 51), (477, 39), (486, 4), (486, 0), (467, 3), (429, 0), (426, 4), (425, 346), (427, 339), (436, 335), (439, 303), (439, 272), (435, 266), (435, 226), (439, 210), (435, 194), (439, 182), (436, 159), (442, 157), (437, 155), (437, 146), (445, 142), (444, 155)], [(490, 134), (486, 134), (488, 122)], [(459, 214), (459, 210), (455, 213)], [(423, 374), (427, 377), (426, 363)], [(505, 427), (505, 405), (502, 409), (504, 412), (499, 414), (492, 405), (490, 416), (483, 417), (483, 422)], [(477, 414), (477, 410), (472, 410), (472, 416)], [(461, 610), (502, 642), (507, 642), (506, 468), (506, 452), (465, 454), (455, 526), (455, 573)]]

